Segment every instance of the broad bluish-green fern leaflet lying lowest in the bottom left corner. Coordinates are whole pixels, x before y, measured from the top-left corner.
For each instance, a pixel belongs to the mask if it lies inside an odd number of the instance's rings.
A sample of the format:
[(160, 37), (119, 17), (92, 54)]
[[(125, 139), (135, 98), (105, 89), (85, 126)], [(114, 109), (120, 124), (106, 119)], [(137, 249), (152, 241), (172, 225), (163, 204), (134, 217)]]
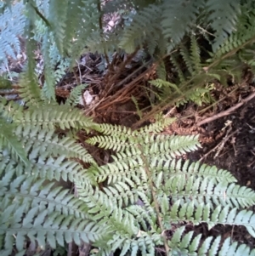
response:
[(106, 232), (105, 228), (92, 221), (66, 217), (58, 212), (48, 213), (46, 208), (34, 207), (26, 213), (25, 204), (2, 209), (0, 219), (0, 236), (4, 239), (1, 255), (9, 255), (14, 244), (17, 251), (22, 252), (26, 237), (31, 242), (37, 241), (41, 248), (45, 248), (46, 243), (55, 248), (57, 244), (64, 247), (65, 242), (74, 241), (77, 245), (94, 242)]

